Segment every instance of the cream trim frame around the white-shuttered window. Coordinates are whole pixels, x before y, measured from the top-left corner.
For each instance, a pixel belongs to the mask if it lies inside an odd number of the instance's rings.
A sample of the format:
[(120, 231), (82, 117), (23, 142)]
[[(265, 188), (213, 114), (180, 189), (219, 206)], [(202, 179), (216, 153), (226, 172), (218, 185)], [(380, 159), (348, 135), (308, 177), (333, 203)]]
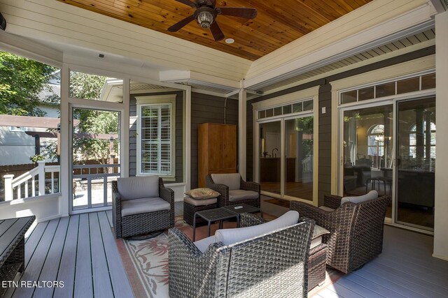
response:
[(172, 174), (163, 175), (157, 174), (165, 180), (176, 179), (176, 94), (165, 94), (165, 95), (155, 95), (155, 96), (137, 96), (137, 176), (152, 176), (153, 173), (144, 173), (141, 171), (141, 107), (144, 105), (171, 105), (171, 161), (172, 161)]

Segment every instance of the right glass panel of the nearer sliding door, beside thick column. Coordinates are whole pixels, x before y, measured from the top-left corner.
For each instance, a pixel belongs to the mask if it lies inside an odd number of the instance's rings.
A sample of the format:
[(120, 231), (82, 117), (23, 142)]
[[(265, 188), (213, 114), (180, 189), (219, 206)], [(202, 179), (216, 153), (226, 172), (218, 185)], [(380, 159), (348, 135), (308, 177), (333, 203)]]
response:
[(435, 98), (397, 103), (397, 221), (434, 228)]

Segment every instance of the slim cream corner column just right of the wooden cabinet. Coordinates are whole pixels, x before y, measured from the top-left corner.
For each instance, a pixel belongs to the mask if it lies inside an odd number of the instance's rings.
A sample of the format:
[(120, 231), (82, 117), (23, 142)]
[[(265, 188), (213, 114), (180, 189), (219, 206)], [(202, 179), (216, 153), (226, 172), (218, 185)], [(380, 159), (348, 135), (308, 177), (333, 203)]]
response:
[(246, 180), (246, 90), (238, 93), (238, 172)]

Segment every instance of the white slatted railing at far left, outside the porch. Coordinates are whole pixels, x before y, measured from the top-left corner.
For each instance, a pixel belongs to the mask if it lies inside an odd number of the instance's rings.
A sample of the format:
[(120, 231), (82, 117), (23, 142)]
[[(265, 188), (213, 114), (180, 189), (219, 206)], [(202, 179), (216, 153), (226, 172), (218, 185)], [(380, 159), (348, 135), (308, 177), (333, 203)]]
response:
[[(19, 177), (14, 178), (13, 174), (4, 175), (5, 180), (5, 200), (10, 201), (14, 199), (36, 197), (37, 195), (46, 195), (49, 193), (55, 193), (59, 181), (59, 165), (45, 165), (45, 161), (38, 161), (37, 167), (21, 174)], [(45, 179), (45, 174), (51, 173), (50, 179)], [(55, 177), (57, 176), (57, 177)], [(37, 184), (36, 184), (37, 177)], [(49, 186), (45, 187), (45, 184), (49, 182)], [(29, 192), (31, 186), (31, 193)], [(22, 195), (22, 188), (24, 193)], [(37, 188), (37, 189), (36, 189)]]

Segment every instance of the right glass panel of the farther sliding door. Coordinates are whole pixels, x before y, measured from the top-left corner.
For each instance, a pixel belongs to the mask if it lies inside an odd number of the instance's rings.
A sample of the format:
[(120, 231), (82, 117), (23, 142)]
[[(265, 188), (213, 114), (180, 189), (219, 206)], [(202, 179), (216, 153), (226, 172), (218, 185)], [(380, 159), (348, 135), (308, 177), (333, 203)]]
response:
[(313, 200), (313, 119), (285, 120), (284, 194)]

